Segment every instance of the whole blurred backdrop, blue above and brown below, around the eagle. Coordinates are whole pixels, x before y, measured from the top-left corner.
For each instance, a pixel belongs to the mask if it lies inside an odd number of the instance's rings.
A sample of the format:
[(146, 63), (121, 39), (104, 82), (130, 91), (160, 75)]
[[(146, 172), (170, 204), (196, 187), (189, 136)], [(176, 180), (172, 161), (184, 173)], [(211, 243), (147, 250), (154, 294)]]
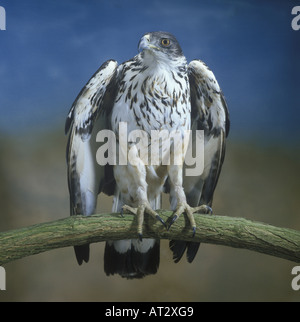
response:
[[(300, 30), (297, 1), (1, 1), (0, 231), (69, 215), (64, 121), (107, 59), (137, 54), (149, 31), (173, 33), (188, 59), (213, 70), (231, 132), (214, 213), (300, 230)], [(167, 204), (166, 204), (167, 206)], [(100, 196), (98, 212), (111, 209)], [(161, 242), (156, 275), (128, 281), (103, 271), (104, 243), (79, 267), (72, 248), (4, 265), (0, 301), (300, 301), (296, 265), (202, 244), (193, 264)]]

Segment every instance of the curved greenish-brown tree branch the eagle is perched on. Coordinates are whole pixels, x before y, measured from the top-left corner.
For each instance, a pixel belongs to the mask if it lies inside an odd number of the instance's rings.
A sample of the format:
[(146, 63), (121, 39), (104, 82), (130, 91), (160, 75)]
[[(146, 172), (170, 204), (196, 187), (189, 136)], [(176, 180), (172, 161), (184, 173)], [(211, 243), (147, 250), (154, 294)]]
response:
[[(172, 212), (160, 210), (168, 223)], [(148, 216), (144, 238), (177, 239), (244, 248), (300, 262), (300, 232), (243, 218), (195, 215), (197, 232), (185, 216), (167, 231), (159, 221)], [(101, 214), (90, 217), (72, 216), (0, 233), (0, 265), (55, 248), (95, 243), (106, 240), (137, 238), (133, 215)]]

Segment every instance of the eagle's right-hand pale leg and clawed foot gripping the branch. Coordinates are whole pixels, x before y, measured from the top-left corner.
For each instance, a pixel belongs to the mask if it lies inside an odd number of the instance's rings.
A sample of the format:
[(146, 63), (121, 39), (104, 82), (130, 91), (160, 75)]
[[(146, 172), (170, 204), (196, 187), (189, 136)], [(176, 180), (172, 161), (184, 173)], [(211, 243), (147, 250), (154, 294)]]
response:
[(181, 214), (186, 213), (189, 219), (190, 225), (192, 227), (193, 236), (194, 236), (196, 233), (196, 222), (193, 214), (195, 212), (206, 213), (206, 214), (212, 213), (212, 209), (207, 205), (201, 205), (199, 207), (191, 207), (188, 205), (186, 201), (186, 196), (183, 190), (183, 186), (182, 186), (182, 167), (181, 166), (177, 166), (177, 165), (169, 166), (169, 178), (171, 181), (172, 189), (174, 191), (175, 199), (177, 201), (176, 202), (177, 206), (168, 229), (170, 229), (172, 224), (179, 218)]

